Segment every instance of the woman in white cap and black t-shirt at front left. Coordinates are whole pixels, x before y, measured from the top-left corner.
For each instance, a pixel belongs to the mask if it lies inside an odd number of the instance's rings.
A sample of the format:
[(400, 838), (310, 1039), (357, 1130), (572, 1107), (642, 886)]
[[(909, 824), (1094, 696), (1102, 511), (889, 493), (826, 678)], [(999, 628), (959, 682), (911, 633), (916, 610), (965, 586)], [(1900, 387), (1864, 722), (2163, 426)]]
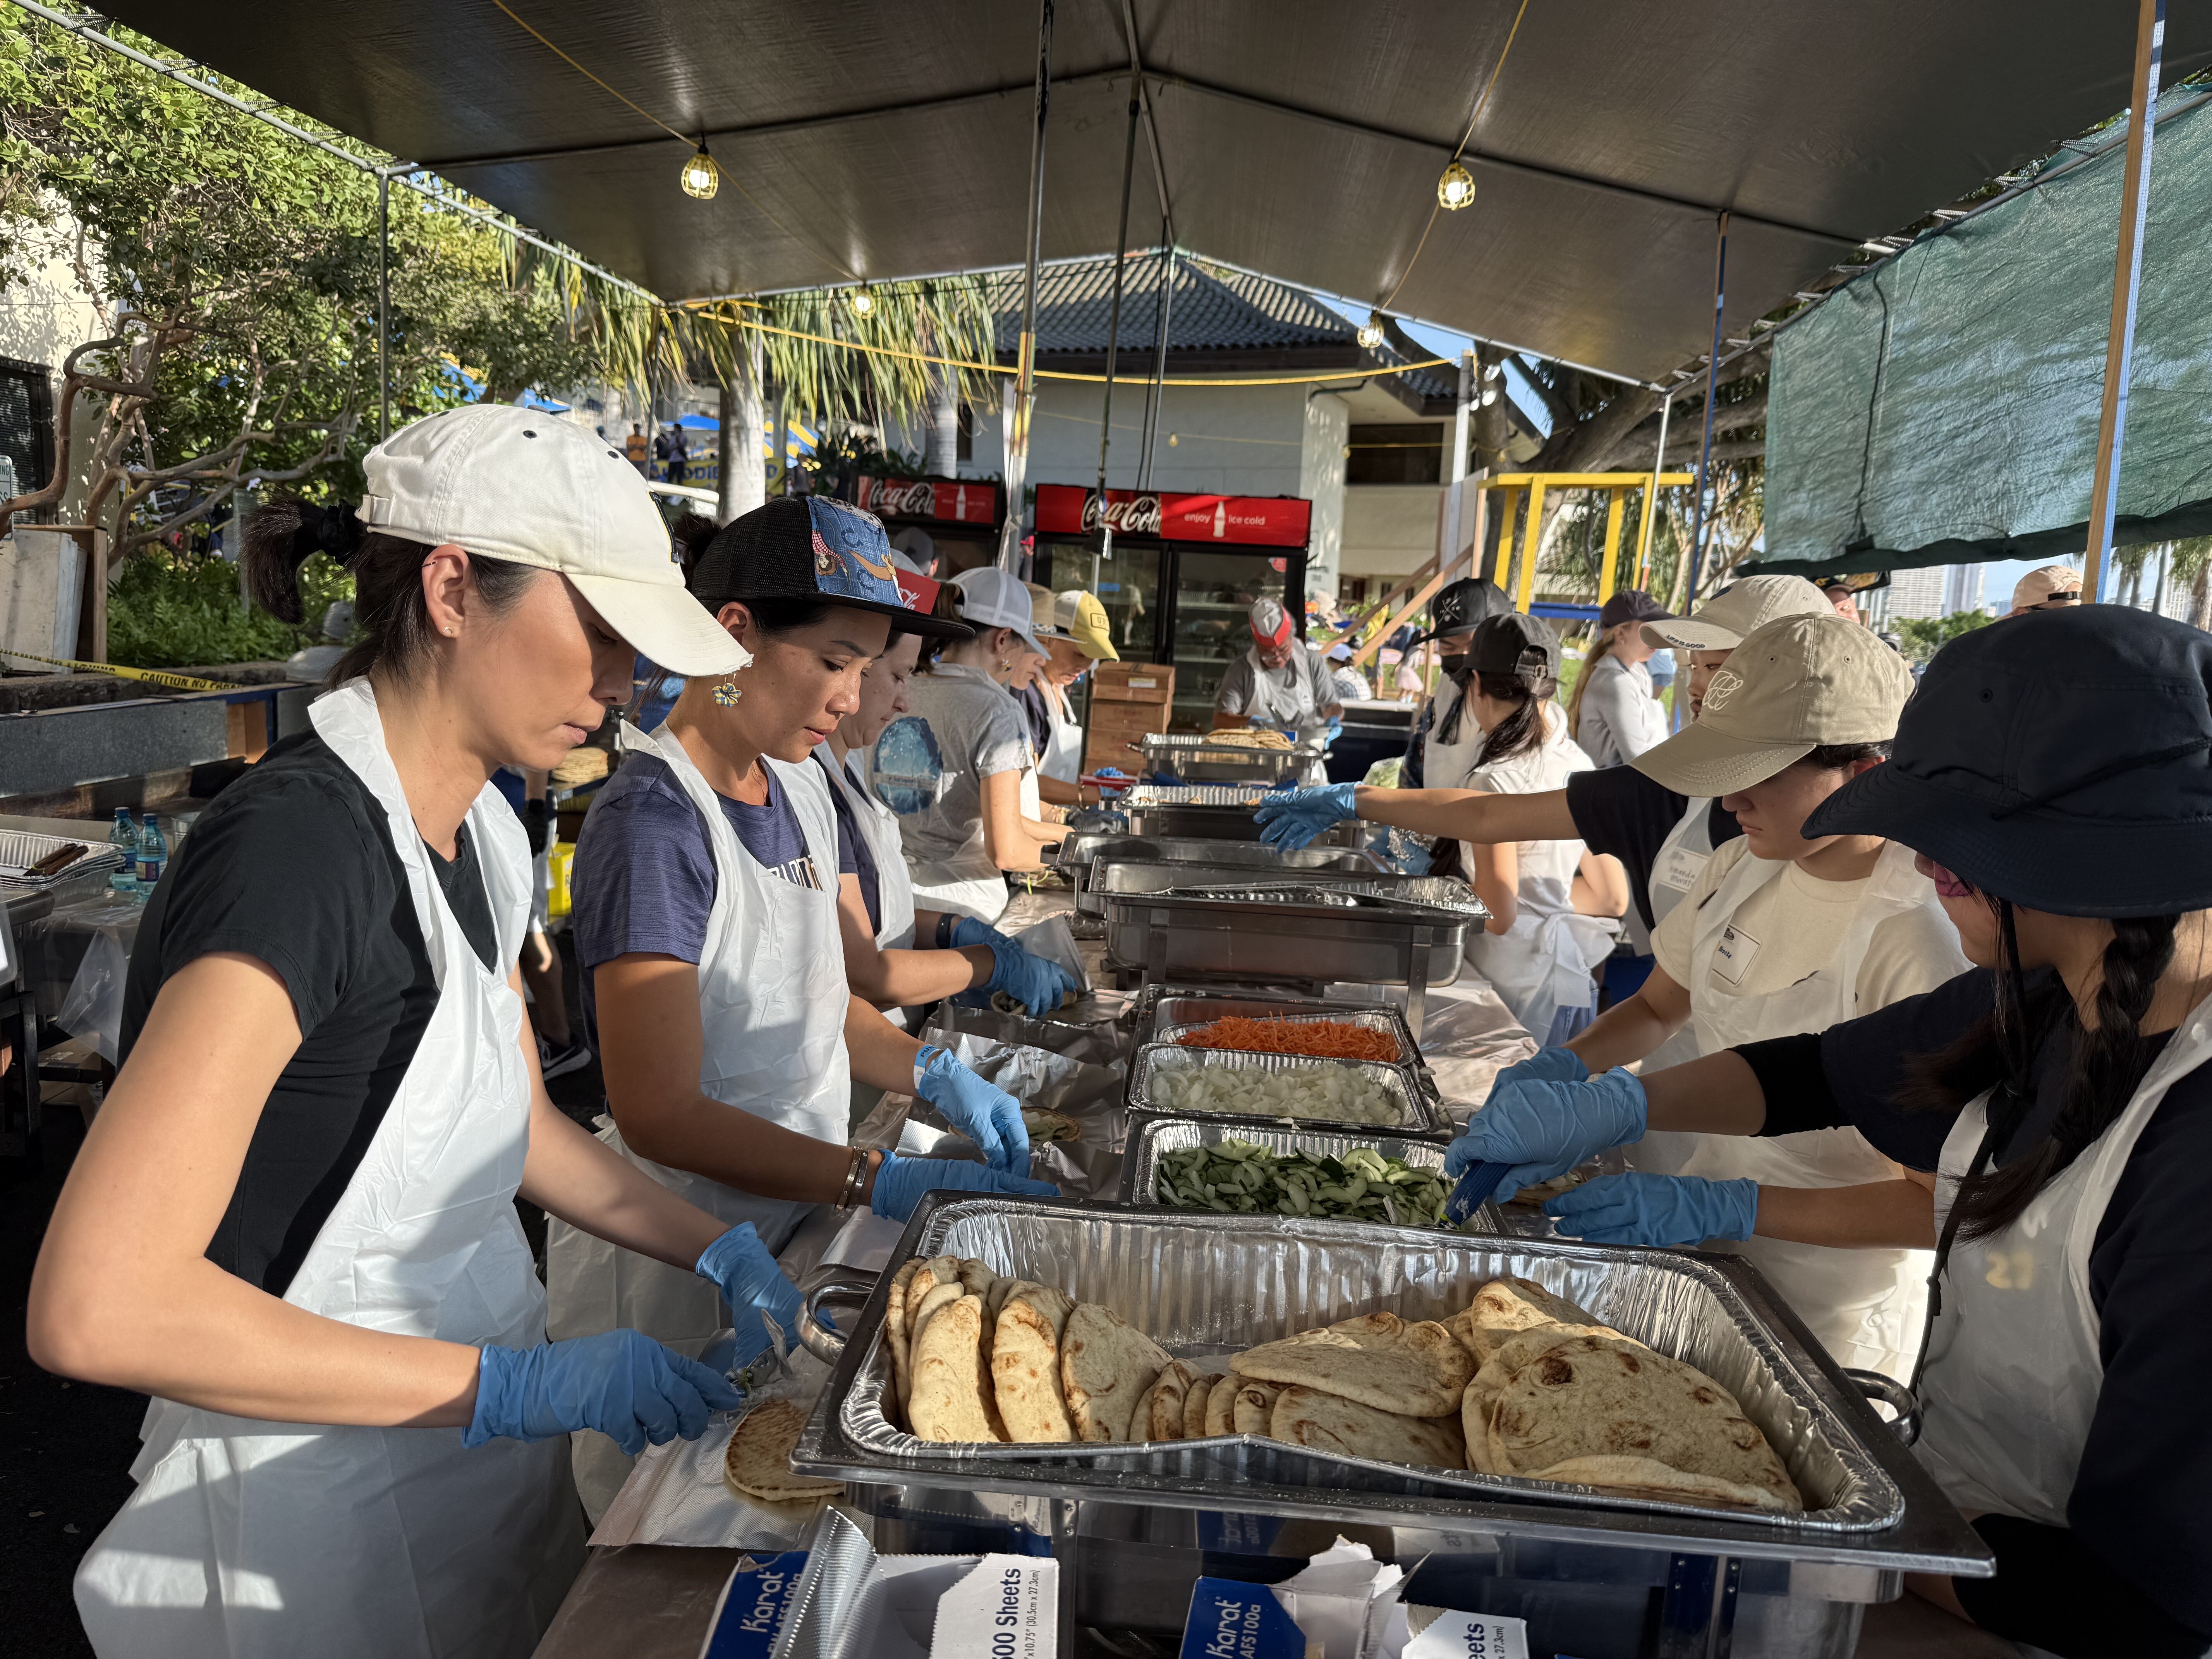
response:
[(104, 1659), (531, 1652), (582, 1562), (568, 1431), (697, 1436), (737, 1394), (637, 1332), (549, 1345), (515, 1197), (739, 1307), (774, 1276), (546, 1099), (529, 852), (489, 787), (584, 741), (633, 648), (692, 675), (741, 653), (580, 427), (458, 409), (367, 482), (358, 520), (285, 502), (248, 531), (292, 619), (299, 562), (338, 557), (363, 641), (146, 907), (31, 1287), (42, 1365), (153, 1396), (77, 1571)]

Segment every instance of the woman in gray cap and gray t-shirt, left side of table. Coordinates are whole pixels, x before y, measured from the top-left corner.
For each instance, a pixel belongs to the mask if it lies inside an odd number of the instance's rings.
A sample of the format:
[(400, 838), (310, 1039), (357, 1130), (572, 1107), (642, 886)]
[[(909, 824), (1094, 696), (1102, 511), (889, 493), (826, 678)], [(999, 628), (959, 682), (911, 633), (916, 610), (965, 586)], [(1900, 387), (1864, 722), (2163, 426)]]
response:
[(1040, 869), (1037, 852), (1066, 832), (1024, 810), (1035, 787), (1029, 723), (1006, 681), (1024, 653), (1048, 657), (1022, 582), (984, 566), (953, 577), (973, 639), (947, 646), (907, 686), (909, 714), (876, 739), (869, 783), (898, 814), (914, 900), (995, 922), (1009, 869)]

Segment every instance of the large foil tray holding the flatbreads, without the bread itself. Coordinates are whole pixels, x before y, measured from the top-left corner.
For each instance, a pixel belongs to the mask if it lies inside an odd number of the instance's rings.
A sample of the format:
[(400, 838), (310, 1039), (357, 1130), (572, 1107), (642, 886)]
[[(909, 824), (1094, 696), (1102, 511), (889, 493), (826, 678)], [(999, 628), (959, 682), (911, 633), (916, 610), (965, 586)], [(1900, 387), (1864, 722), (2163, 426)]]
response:
[[(1624, 1533), (1621, 1544), (1712, 1540), (1723, 1553), (1814, 1559), (1887, 1553), (1863, 1535), (1905, 1517), (1891, 1467), (1916, 1482), (1916, 1504), (1940, 1506), (1909, 1451), (1889, 1449), (1885, 1467), (1869, 1449), (1889, 1433), (1880, 1418), (1832, 1363), (1814, 1356), (1803, 1327), (1767, 1301), (1759, 1270), (1734, 1256), (951, 1192), (925, 1199), (894, 1261), (933, 1254), (975, 1256), (1000, 1274), (1060, 1285), (1214, 1371), (1232, 1354), (1301, 1329), (1378, 1310), (1442, 1321), (1500, 1274), (1533, 1279), (1728, 1387), (1781, 1453), (1807, 1509), (1708, 1509), (1467, 1469), (1413, 1469), (1259, 1436), (1157, 1444), (920, 1440), (883, 1411), (894, 1387), (883, 1336), (889, 1274), (863, 1307), (799, 1438), (796, 1471), (1179, 1509), (1272, 1513), (1270, 1504), (1283, 1504), (1281, 1513), (1340, 1520), (1422, 1515), (1489, 1533), (1588, 1537), (1597, 1528)], [(1951, 1544), (1966, 1548), (1969, 1540)]]

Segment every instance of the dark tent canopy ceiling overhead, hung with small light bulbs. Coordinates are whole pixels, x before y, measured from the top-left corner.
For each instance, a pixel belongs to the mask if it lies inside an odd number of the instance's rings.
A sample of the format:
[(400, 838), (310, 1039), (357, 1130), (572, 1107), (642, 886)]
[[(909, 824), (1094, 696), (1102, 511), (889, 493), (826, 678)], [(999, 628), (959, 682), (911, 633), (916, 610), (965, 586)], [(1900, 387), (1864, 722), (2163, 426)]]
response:
[[(1741, 334), (1863, 239), (2124, 108), (2135, 49), (2132, 7), (2079, 0), (1546, 0), (1473, 133), (1475, 204), (1438, 215), (1416, 261), (1515, 0), (1130, 4), (1183, 248), (1354, 299), (1396, 290), (1405, 314), (1639, 380), (1710, 343), (1719, 210)], [(1033, 7), (104, 9), (666, 299), (1022, 259)], [(2212, 13), (2177, 9), (2168, 77), (2205, 62)], [(1046, 257), (1113, 250), (1126, 106), (1121, 7), (1062, 0)], [(677, 190), (688, 150), (657, 122), (708, 135), (719, 197)], [(1159, 199), (1152, 157), (1137, 166), (1141, 246)]]

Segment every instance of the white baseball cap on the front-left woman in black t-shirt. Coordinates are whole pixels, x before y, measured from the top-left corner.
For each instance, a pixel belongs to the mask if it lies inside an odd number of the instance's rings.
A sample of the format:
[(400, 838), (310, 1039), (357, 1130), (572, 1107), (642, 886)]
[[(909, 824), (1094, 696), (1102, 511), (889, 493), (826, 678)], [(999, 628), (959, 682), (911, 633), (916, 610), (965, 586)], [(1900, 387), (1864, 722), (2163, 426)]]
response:
[(473, 403), (425, 416), (363, 462), (356, 518), (385, 535), (560, 571), (639, 655), (677, 675), (752, 661), (684, 588), (668, 524), (637, 469), (542, 409)]

